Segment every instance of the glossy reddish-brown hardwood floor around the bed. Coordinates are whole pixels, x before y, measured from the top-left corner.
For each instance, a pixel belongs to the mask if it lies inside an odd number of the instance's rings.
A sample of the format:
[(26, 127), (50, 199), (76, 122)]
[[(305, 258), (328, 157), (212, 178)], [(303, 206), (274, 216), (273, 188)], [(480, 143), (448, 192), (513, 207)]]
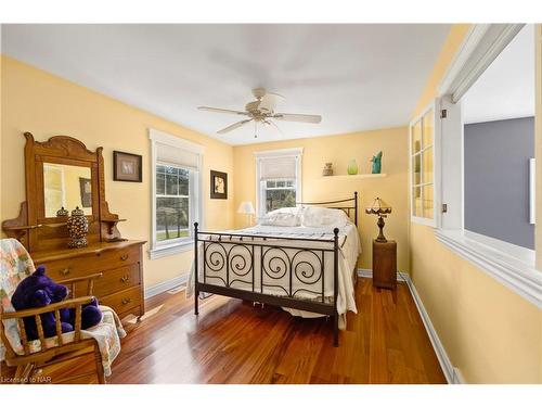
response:
[[(356, 296), (358, 314), (349, 313), (335, 348), (324, 318), (218, 296), (204, 301), (196, 318), (184, 292), (160, 294), (142, 321), (126, 323), (129, 334), (107, 382), (446, 383), (404, 283), (391, 292), (359, 279)], [(78, 361), (40, 374), (54, 381), (61, 371), (90, 366)]]

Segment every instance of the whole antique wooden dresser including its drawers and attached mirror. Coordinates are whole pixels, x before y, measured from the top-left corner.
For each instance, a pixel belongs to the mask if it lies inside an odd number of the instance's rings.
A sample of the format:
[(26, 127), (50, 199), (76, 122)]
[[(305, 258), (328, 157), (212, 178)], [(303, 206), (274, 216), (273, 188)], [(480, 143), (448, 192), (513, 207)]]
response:
[[(46, 266), (53, 280), (62, 283), (102, 274), (93, 285), (100, 304), (111, 306), (120, 317), (142, 316), (145, 242), (124, 239), (117, 229), (126, 219), (111, 213), (105, 200), (102, 148), (90, 151), (68, 136), (46, 141), (36, 141), (29, 132), (24, 136), (26, 201), (16, 218), (2, 222), (2, 230), (21, 241), (36, 267)], [(85, 209), (87, 246), (68, 249), (68, 216), (59, 211), (61, 206)], [(74, 296), (86, 295), (86, 283), (74, 284)]]

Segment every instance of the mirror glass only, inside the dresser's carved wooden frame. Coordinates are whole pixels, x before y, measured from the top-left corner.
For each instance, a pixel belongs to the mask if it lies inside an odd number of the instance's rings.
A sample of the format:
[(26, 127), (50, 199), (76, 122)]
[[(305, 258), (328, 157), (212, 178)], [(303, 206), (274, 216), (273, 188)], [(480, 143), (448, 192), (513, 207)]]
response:
[(92, 215), (90, 167), (43, 163), (43, 206), (46, 218), (56, 217), (61, 208), (69, 213), (76, 207)]

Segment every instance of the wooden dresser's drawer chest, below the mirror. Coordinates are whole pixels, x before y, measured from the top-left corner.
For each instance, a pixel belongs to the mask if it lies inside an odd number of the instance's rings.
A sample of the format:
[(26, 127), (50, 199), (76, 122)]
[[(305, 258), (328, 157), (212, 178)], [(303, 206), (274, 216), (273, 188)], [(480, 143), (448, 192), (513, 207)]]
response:
[[(48, 276), (60, 283), (102, 272), (94, 282), (99, 303), (115, 309), (120, 318), (129, 314), (140, 317), (144, 314), (143, 243), (136, 240), (94, 243), (83, 249), (34, 252), (31, 256), (36, 267), (46, 266)], [(75, 290), (77, 296), (77, 292), (85, 292), (86, 285), (76, 285)]]

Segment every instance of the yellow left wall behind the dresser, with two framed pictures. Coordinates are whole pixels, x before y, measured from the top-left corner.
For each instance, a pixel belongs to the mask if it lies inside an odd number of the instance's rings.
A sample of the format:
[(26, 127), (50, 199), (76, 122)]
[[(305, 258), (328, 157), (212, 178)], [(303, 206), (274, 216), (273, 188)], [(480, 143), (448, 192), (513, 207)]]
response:
[[(206, 176), (212, 168), (225, 171), (232, 178), (232, 147), (7, 56), (2, 56), (1, 75), (0, 220), (16, 217), (18, 205), (25, 200), (23, 132), (33, 132), (38, 141), (67, 135), (81, 140), (91, 150), (104, 148), (105, 196), (109, 209), (128, 219), (119, 225), (119, 230), (126, 238), (150, 241), (151, 149), (147, 128), (152, 127), (204, 145), (206, 227), (228, 229), (233, 226), (233, 200), (210, 200), (209, 177)], [(113, 181), (113, 150), (143, 155), (143, 182)], [(231, 192), (233, 179), (229, 183)], [(145, 253), (145, 284), (151, 287), (185, 274), (191, 262), (191, 252), (155, 260), (150, 260)]]

